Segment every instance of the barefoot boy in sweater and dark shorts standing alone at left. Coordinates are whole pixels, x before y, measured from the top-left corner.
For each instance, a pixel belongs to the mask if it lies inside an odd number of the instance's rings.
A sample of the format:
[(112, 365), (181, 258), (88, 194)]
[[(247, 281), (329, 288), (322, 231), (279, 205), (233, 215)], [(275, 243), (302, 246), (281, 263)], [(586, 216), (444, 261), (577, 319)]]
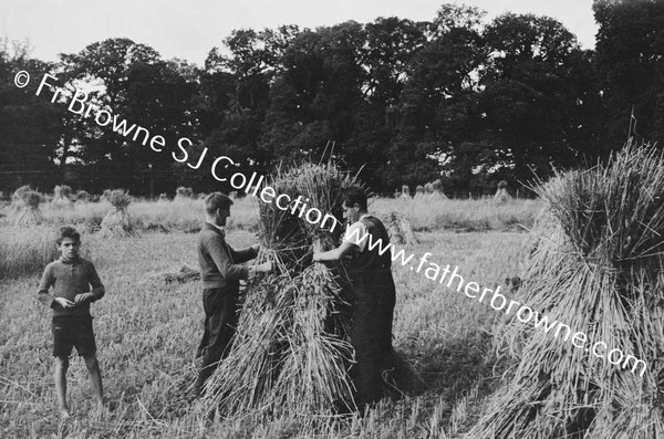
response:
[[(85, 360), (92, 389), (100, 406), (104, 390), (92, 332), (90, 304), (103, 297), (104, 285), (92, 262), (79, 255), (81, 234), (72, 227), (58, 232), (59, 260), (46, 265), (39, 284), (38, 297), (53, 310), (53, 356), (55, 357), (55, 390), (60, 416), (69, 418), (66, 405), (66, 369), (72, 347)], [(52, 293), (49, 289), (53, 288)]]

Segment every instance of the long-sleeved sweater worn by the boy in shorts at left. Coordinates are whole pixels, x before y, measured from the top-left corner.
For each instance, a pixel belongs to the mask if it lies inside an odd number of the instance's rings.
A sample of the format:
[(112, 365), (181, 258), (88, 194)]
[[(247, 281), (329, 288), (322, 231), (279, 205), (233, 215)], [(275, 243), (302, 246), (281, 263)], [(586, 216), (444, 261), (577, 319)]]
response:
[[(52, 294), (49, 293), (51, 286), (53, 286)], [(92, 292), (92, 299), (69, 309), (54, 302), (55, 297), (65, 297), (74, 302), (76, 294), (89, 291)], [(104, 293), (104, 285), (92, 262), (83, 258), (74, 261), (64, 261), (60, 258), (44, 269), (37, 295), (41, 303), (53, 310), (53, 316), (62, 316), (90, 315), (90, 303), (102, 299)]]

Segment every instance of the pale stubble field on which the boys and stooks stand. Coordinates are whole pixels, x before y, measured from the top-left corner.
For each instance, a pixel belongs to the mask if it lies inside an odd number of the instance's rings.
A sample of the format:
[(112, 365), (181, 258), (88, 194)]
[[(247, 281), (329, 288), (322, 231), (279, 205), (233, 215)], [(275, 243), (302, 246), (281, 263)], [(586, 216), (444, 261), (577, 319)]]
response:
[[(30, 229), (0, 220), (0, 437), (456, 437), (474, 422), (481, 397), (498, 379), (494, 374), (492, 325), (498, 315), (395, 264), (397, 289), (396, 349), (419, 374), (425, 388), (398, 401), (383, 401), (364, 418), (271, 418), (248, 415), (206, 425), (181, 388), (195, 377), (194, 354), (203, 332), (199, 282), (166, 284), (155, 274), (196, 262), (199, 201), (135, 202), (129, 212), (139, 236), (102, 239), (94, 224), (107, 206), (76, 206), (65, 215), (44, 211), (46, 223)], [(516, 274), (527, 234), (540, 209), (538, 201), (499, 207), (488, 200), (376, 200), (373, 208), (402, 210), (432, 262), (458, 265), (466, 280), (492, 288)], [(370, 208), (371, 209), (371, 208)], [(258, 222), (250, 200), (231, 210), (228, 241), (255, 242)], [(49, 237), (55, 224), (72, 222), (85, 230), (83, 254), (92, 259), (106, 286), (93, 305), (94, 327), (106, 398), (114, 410), (91, 408), (87, 373), (80, 359), (69, 372), (72, 420), (60, 422), (52, 379), (50, 310), (38, 303), (43, 265), (54, 254)], [(147, 224), (160, 223), (162, 231)], [(87, 224), (87, 227), (84, 227)], [(474, 230), (474, 231), (468, 231)], [(187, 232), (188, 231), (188, 232)]]

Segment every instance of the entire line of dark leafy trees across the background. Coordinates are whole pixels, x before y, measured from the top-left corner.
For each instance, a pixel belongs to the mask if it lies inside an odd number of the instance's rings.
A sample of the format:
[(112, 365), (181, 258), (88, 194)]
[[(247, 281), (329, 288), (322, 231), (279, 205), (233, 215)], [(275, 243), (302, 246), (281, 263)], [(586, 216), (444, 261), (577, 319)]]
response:
[(593, 11), (594, 50), (551, 18), (487, 21), (455, 4), (424, 22), (235, 30), (201, 67), (125, 38), (55, 63), (4, 41), (0, 190), (228, 189), (35, 96), (34, 83), (17, 87), (21, 70), (37, 83), (50, 72), (72, 94), (85, 84), (101, 108), (167, 145), (190, 139), (189, 157), (208, 148), (247, 171), (334, 157), (374, 192), (436, 179), (459, 191), (547, 179), (605, 158), (629, 136), (664, 138), (664, 1), (595, 0)]

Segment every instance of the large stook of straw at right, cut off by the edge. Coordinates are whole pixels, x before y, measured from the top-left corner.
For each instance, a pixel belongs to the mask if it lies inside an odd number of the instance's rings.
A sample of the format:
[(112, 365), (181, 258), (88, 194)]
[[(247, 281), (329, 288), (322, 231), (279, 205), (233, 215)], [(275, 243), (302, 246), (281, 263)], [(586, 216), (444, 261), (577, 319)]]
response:
[[(664, 156), (627, 145), (536, 192), (550, 232), (538, 237), (515, 299), (589, 342), (506, 321), (497, 344), (517, 364), (467, 437), (661, 438)], [(606, 344), (604, 356), (616, 348), (633, 357), (610, 364), (588, 352), (595, 342)]]

